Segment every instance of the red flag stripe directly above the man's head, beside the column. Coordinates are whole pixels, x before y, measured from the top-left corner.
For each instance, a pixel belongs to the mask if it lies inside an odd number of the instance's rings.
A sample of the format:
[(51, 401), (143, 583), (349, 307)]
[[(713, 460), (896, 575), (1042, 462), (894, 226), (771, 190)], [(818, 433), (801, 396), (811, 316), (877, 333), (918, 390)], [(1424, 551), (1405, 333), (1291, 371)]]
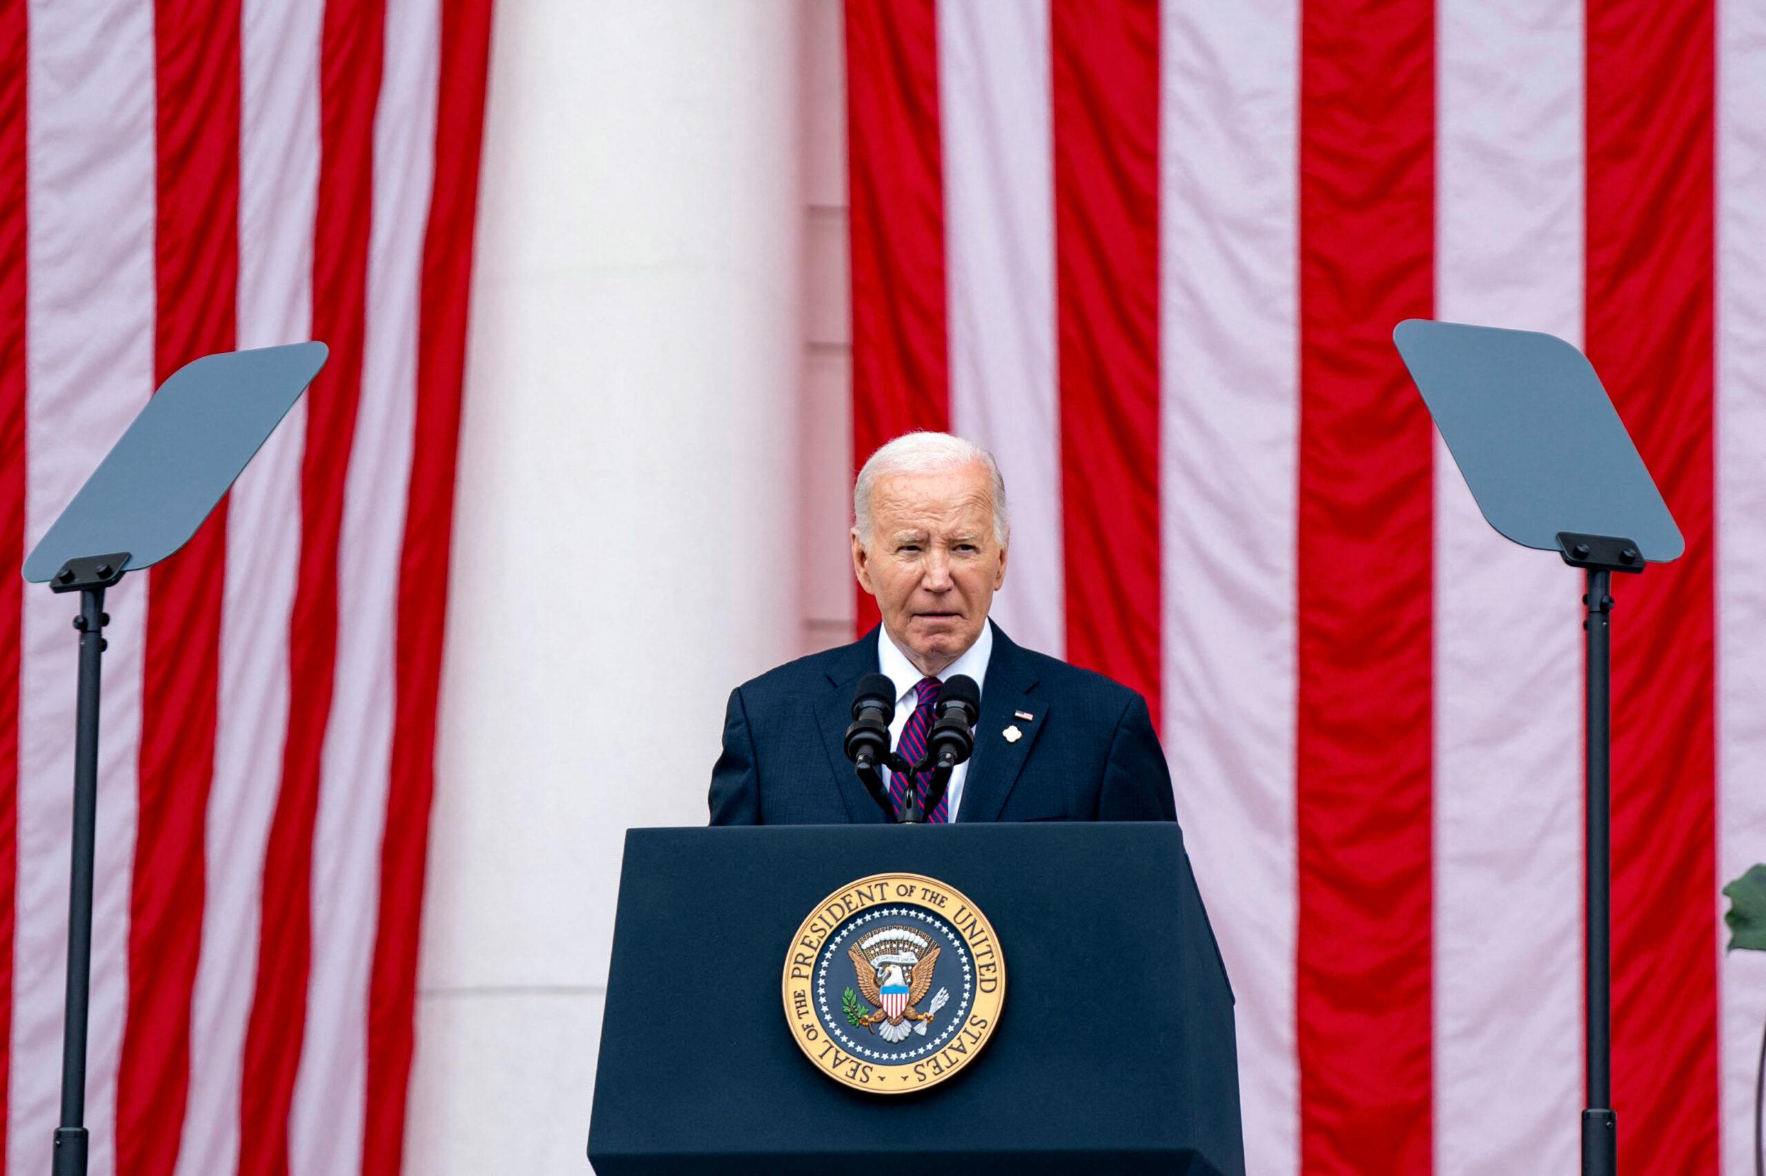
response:
[[(848, 0), (853, 468), (908, 429), (950, 427), (945, 178), (932, 0)], [(858, 590), (858, 630), (878, 622)]]

